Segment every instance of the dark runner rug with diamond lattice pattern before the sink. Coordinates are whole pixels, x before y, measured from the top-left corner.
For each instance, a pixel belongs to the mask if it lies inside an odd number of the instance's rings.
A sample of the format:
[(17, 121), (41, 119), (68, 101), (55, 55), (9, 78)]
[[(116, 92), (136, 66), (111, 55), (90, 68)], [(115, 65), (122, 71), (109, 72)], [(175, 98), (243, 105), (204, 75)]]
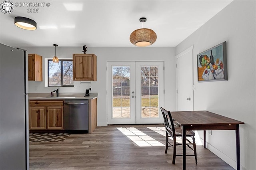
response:
[(62, 142), (70, 133), (29, 133), (29, 142)]

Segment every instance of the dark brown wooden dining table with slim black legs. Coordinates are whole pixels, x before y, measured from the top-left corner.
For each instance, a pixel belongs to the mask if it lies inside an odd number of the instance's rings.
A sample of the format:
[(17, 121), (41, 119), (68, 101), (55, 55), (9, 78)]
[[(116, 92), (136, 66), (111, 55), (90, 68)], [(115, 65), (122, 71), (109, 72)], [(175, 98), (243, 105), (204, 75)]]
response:
[[(186, 141), (186, 130), (204, 130), (204, 148), (206, 130), (236, 130), (236, 166), (240, 170), (240, 139), (239, 124), (244, 124), (228, 117), (208, 111), (177, 111), (171, 112), (172, 119), (182, 128), (182, 141)], [(183, 148), (183, 170), (186, 170), (186, 142)]]

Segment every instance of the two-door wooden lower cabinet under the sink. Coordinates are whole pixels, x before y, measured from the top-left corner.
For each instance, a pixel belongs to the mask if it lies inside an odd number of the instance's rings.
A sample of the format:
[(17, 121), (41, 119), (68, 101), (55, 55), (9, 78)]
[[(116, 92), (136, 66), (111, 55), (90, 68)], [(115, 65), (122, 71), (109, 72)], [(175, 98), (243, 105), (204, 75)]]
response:
[(29, 130), (63, 129), (63, 101), (30, 100)]

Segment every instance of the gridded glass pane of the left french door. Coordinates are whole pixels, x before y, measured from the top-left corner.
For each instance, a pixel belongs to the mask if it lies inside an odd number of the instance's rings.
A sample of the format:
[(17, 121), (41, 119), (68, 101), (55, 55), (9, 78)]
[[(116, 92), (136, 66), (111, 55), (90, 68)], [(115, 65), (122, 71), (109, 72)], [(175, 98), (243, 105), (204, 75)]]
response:
[(112, 118), (130, 118), (130, 67), (112, 66)]

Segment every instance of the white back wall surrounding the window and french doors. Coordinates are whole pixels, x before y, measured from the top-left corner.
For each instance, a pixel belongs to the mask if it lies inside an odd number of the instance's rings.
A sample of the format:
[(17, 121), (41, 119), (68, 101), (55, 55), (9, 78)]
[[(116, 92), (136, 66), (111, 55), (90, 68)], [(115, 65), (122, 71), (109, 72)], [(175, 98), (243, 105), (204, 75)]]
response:
[[(44, 58), (52, 58), (55, 54), (55, 48), (53, 46), (22, 48), (28, 50), (28, 53), (43, 56), (43, 82), (29, 81), (29, 93), (50, 94), (55, 88), (44, 87)], [(57, 47), (56, 51), (59, 58), (72, 58), (73, 53), (82, 53), (82, 46)], [(82, 84), (77, 81), (74, 83), (74, 87), (60, 87), (59, 93), (85, 93), (85, 89), (91, 85), (91, 93), (98, 93), (98, 126), (107, 125), (107, 61), (164, 61), (165, 103), (172, 110), (176, 109), (174, 47), (88, 47), (86, 53), (97, 55), (97, 81)], [(37, 86), (38, 91), (35, 90)]]

